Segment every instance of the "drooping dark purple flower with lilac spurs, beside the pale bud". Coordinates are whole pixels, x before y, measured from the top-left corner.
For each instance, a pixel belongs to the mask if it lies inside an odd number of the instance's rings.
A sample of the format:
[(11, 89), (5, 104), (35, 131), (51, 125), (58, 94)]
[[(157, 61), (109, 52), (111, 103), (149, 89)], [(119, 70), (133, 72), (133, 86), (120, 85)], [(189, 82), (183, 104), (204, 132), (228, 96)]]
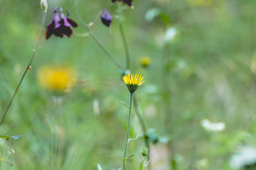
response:
[(63, 35), (66, 35), (68, 37), (72, 34), (71, 27), (77, 27), (76, 22), (71, 20), (69, 17), (69, 11), (67, 11), (67, 17), (62, 12), (62, 8), (60, 8), (60, 16), (58, 15), (58, 7), (55, 8), (52, 15), (52, 22), (47, 25), (47, 31), (46, 31), (46, 39), (49, 39), (52, 34), (54, 36), (62, 38)]

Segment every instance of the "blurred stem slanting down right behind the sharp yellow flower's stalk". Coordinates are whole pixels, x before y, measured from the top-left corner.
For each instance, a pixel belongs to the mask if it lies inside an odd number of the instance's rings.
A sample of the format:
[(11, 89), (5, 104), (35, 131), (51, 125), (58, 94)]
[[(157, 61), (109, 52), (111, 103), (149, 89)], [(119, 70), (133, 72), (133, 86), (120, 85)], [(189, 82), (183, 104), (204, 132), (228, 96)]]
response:
[(145, 146), (148, 148), (147, 159), (148, 159), (148, 170), (150, 170), (151, 169), (151, 165), (150, 165), (150, 145), (149, 145), (148, 138), (146, 136), (147, 135), (147, 125), (146, 125), (146, 122), (144, 121), (144, 118), (142, 117), (140, 106), (138, 104), (138, 101), (137, 101), (135, 95), (134, 95), (133, 104), (134, 104), (134, 110), (135, 110), (136, 116), (138, 117), (138, 120), (139, 120), (140, 125), (141, 125), (141, 129), (143, 131)]

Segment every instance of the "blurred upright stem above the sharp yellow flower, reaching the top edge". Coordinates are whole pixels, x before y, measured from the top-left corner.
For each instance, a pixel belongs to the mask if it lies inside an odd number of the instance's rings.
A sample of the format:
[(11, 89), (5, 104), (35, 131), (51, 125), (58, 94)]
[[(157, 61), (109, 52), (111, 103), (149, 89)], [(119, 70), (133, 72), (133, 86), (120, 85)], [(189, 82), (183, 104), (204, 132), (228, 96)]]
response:
[(122, 3), (118, 4), (118, 11), (119, 11), (119, 17), (120, 17), (120, 19), (118, 20), (118, 25), (119, 25), (120, 33), (121, 33), (121, 36), (122, 36), (122, 40), (124, 42), (125, 57), (126, 57), (126, 69), (130, 69), (129, 48), (128, 48), (127, 39), (125, 38), (124, 28), (123, 28), (123, 24), (122, 24), (122, 16), (123, 16)]

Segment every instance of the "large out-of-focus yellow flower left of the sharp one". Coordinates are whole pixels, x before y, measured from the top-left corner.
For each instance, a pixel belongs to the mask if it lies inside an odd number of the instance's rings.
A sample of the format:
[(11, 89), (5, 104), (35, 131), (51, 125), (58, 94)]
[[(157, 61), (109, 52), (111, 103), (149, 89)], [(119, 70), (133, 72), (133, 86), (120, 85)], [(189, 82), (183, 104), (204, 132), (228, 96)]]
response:
[(38, 71), (40, 85), (47, 90), (66, 91), (76, 80), (74, 71), (69, 67), (45, 66)]

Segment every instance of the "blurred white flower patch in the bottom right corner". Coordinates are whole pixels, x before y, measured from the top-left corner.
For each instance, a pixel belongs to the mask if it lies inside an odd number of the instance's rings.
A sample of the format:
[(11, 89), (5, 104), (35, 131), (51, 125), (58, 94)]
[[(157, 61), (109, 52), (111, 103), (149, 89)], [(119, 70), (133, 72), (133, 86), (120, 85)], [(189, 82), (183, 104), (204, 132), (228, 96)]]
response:
[(230, 166), (232, 168), (241, 168), (250, 166), (256, 163), (256, 147), (243, 146), (239, 148), (237, 153), (230, 159)]

